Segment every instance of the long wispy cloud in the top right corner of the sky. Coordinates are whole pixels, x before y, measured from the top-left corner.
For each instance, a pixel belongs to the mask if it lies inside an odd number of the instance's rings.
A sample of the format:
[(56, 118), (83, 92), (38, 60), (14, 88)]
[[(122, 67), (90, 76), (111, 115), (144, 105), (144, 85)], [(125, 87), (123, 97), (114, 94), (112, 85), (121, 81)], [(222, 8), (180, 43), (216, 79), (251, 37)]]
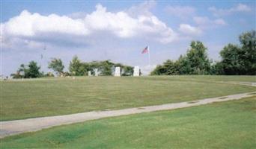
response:
[(237, 6), (229, 9), (217, 9), (216, 7), (209, 7), (208, 10), (213, 13), (213, 16), (228, 16), (236, 12), (242, 13), (252, 11), (251, 7), (246, 4), (237, 4)]

